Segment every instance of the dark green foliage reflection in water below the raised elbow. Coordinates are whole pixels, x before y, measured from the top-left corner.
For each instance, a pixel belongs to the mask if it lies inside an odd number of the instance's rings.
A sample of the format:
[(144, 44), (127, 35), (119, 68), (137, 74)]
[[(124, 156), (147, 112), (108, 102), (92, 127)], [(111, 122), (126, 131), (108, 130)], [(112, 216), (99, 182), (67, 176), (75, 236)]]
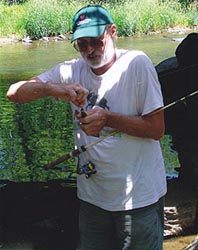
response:
[(26, 104), (8, 102), (5, 82), (0, 79), (0, 179), (66, 179), (69, 170), (76, 171), (74, 160), (60, 164), (63, 171), (46, 171), (44, 166), (74, 149), (69, 104), (52, 98)]

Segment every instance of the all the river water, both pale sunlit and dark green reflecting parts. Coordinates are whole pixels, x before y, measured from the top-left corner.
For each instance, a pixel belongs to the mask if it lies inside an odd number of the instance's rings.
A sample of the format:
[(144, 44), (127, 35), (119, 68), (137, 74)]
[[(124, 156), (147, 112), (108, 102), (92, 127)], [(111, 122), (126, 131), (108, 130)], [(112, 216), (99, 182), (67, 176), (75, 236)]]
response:
[[(145, 51), (154, 65), (174, 56), (179, 42), (174, 35), (117, 38), (118, 48)], [(178, 37), (178, 36), (177, 36)], [(6, 98), (11, 83), (29, 79), (55, 64), (78, 57), (69, 40), (34, 41), (0, 46), (0, 169), (1, 179), (43, 181), (67, 179), (75, 172), (74, 162), (60, 167), (63, 171), (45, 171), (45, 164), (73, 149), (70, 109), (67, 103), (45, 98), (28, 104), (13, 104)], [(67, 124), (65, 126), (65, 124)], [(175, 152), (167, 152), (167, 169), (177, 165)], [(171, 173), (172, 170), (168, 170)], [(75, 173), (73, 174), (75, 177)]]

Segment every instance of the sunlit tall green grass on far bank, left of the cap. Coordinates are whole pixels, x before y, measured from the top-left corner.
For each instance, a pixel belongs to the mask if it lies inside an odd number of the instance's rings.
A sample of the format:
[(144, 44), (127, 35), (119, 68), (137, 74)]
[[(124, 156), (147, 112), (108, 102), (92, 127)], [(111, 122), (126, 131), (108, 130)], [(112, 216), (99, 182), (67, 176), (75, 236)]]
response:
[(30, 36), (39, 39), (44, 36), (65, 34), (71, 30), (73, 14), (77, 3), (56, 0), (29, 0), (23, 5), (0, 3), (0, 36)]

